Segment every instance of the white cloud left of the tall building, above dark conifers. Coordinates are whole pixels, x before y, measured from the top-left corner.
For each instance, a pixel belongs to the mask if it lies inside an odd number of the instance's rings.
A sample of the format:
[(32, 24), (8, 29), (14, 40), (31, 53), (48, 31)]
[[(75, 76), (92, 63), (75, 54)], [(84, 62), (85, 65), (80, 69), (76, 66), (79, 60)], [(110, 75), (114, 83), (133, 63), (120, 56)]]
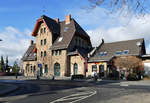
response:
[(9, 64), (12, 65), (27, 50), (30, 40), (33, 39), (30, 35), (29, 29), (20, 31), (12, 26), (0, 30), (0, 38), (3, 40), (0, 42), (0, 55), (8, 56)]

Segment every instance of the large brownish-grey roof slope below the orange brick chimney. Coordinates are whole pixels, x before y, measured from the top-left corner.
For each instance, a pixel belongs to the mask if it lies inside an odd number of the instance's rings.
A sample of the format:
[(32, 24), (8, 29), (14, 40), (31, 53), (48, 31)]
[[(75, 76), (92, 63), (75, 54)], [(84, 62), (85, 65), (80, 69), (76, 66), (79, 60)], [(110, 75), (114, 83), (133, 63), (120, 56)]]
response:
[[(74, 19), (71, 19), (70, 24), (65, 24), (65, 21), (60, 22), (60, 35), (50, 48), (53, 50), (67, 48), (75, 33), (80, 33), (80, 35), (90, 39), (88, 34)], [(60, 38), (62, 38), (61, 41), (59, 41)]]

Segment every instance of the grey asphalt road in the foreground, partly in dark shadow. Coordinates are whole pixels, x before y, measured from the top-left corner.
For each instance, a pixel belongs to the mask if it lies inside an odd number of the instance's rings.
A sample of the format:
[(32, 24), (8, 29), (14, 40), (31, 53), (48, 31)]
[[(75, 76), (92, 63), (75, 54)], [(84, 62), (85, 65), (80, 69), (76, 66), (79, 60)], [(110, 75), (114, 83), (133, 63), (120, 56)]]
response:
[(6, 96), (4, 101), (8, 103), (107, 103), (114, 98), (150, 93), (149, 86), (120, 86), (106, 81), (97, 83), (26, 81), (16, 85), (19, 85), (20, 89)]

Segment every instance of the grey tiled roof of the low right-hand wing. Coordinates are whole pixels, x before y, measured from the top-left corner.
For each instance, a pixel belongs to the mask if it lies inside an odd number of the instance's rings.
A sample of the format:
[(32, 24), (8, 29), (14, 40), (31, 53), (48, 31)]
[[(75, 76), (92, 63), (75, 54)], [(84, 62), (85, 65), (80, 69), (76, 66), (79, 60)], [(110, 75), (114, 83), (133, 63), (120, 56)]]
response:
[[(137, 43), (143, 43), (144, 39), (118, 41), (112, 43), (103, 43), (95, 52), (93, 57), (90, 57), (89, 62), (92, 61), (109, 61), (112, 57), (116, 56), (117, 51), (123, 52), (128, 50), (128, 55), (140, 55), (140, 47)], [(106, 56), (100, 56), (100, 52), (107, 52)]]

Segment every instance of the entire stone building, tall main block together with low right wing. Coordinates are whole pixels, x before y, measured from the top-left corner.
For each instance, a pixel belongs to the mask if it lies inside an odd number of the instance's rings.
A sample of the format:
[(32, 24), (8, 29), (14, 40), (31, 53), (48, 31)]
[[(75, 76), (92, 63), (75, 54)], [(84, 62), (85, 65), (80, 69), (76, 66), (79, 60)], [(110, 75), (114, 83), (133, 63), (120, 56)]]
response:
[(88, 77), (97, 72), (106, 78), (112, 72), (111, 60), (114, 57), (144, 58), (142, 56), (146, 54), (143, 38), (112, 43), (105, 43), (102, 39), (98, 47), (92, 48), (90, 37), (71, 15), (67, 15), (64, 21), (41, 16), (32, 36), (35, 43), (31, 40), (22, 58), (25, 76), (82, 74)]

